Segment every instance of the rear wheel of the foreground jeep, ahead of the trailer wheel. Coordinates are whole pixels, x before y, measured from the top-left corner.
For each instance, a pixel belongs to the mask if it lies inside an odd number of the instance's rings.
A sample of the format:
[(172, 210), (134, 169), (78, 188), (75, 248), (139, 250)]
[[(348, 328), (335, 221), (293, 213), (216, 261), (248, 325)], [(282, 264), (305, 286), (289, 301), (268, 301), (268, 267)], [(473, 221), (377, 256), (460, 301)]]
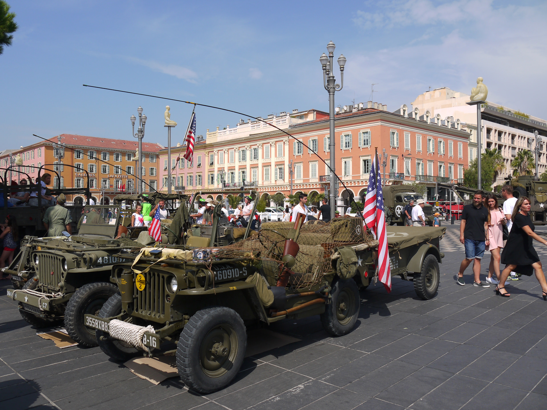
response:
[(353, 330), (361, 298), (353, 279), (338, 279), (330, 291), (331, 301), (321, 314), (323, 329), (333, 336), (343, 336)]

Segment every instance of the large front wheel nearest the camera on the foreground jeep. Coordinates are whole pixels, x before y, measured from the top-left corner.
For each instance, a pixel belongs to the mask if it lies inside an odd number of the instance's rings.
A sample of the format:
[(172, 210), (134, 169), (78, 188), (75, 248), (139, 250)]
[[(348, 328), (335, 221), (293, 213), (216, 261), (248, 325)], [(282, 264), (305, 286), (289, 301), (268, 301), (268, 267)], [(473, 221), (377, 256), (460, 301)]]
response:
[(190, 390), (212, 393), (234, 379), (246, 348), (247, 331), (237, 312), (227, 307), (202, 309), (181, 332), (178, 374)]

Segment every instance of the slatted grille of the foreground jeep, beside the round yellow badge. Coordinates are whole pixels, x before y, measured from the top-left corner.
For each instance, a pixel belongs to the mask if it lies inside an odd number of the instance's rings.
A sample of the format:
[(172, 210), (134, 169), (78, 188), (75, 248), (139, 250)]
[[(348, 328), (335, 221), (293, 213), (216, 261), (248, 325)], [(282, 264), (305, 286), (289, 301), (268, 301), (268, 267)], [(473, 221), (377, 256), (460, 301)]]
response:
[[(145, 286), (142, 291), (135, 285), (137, 295), (135, 310), (146, 319), (163, 319), (165, 317), (165, 279), (166, 275), (158, 272), (143, 273)], [(137, 273), (135, 273), (135, 279)]]

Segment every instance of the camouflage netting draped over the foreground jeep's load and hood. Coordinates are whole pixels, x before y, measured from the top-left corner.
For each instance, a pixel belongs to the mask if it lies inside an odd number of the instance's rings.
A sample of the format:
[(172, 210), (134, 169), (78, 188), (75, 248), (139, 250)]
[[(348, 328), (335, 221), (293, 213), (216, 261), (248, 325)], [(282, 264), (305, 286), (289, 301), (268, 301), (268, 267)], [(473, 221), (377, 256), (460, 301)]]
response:
[[(194, 250), (202, 260), (245, 258), (254, 260), (254, 266), (271, 286), (275, 286), (280, 274), (283, 247), (287, 237), (294, 237), (294, 222), (265, 222), (258, 235), (222, 248)], [(300, 250), (291, 271), (288, 286), (293, 289), (307, 288), (321, 282), (323, 276), (335, 271), (330, 256), (335, 248), (349, 244), (373, 245), (374, 238), (363, 230), (363, 219), (340, 218), (328, 223), (312, 221), (300, 229), (296, 243)], [(201, 253), (200, 253), (201, 252)]]

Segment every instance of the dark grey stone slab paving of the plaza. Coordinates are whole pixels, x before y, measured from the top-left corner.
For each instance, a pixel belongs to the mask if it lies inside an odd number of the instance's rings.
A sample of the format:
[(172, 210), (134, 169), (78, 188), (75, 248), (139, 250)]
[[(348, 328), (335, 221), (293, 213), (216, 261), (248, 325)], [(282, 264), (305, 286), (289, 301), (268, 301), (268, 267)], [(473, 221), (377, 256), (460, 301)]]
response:
[[(317, 316), (275, 323), (270, 329), (301, 342), (246, 359), (231, 385), (209, 395), (189, 393), (178, 378), (153, 385), (99, 348), (55, 347), (21, 319), (2, 281), (0, 403), (10, 410), (547, 408), (547, 302), (539, 284), (511, 281), (511, 297), (502, 298), (493, 286), (474, 287), (468, 268), (467, 285), (458, 286), (458, 227), (447, 226), (441, 241), (446, 256), (432, 300), (394, 278), (391, 294), (380, 283), (361, 292), (349, 335), (330, 337)], [(489, 261), (486, 253), (482, 273)]]

